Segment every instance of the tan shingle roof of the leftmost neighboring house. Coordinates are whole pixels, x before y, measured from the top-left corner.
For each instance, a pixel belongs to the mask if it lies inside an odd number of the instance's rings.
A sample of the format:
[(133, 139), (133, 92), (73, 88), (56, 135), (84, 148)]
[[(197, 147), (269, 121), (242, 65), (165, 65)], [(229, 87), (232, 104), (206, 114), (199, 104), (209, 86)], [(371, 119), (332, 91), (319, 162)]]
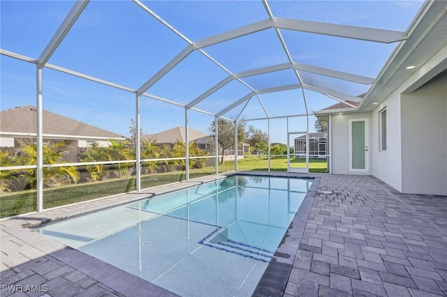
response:
[[(36, 133), (36, 107), (32, 105), (15, 107), (0, 112), (0, 131), (15, 133)], [(123, 138), (108, 130), (88, 125), (74, 119), (43, 110), (43, 133), (87, 137)]]

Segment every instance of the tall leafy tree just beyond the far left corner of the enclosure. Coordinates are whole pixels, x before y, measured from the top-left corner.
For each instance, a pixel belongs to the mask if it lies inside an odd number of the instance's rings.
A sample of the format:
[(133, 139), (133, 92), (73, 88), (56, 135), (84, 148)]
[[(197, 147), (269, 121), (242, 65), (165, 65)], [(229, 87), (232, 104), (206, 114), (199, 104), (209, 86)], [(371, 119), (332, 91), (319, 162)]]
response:
[[(235, 145), (235, 126), (232, 122), (226, 121), (224, 119), (217, 119), (217, 139), (219, 147), (221, 149), (221, 164), (223, 163), (223, 153), (226, 149)], [(208, 127), (212, 139), (216, 139), (216, 121), (212, 121), (210, 127)], [(245, 123), (237, 123), (237, 143), (241, 144), (245, 141)], [(211, 144), (211, 142), (210, 142)], [(236, 148), (237, 149), (237, 148)]]

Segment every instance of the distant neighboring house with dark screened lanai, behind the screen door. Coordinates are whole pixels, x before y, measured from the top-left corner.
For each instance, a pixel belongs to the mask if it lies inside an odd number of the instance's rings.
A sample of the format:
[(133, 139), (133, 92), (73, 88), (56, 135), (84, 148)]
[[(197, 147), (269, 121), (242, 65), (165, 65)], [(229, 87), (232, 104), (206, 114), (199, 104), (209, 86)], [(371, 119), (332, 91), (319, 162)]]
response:
[[(325, 132), (309, 133), (309, 157), (326, 158), (328, 137)], [(306, 135), (295, 138), (295, 155), (306, 155)]]

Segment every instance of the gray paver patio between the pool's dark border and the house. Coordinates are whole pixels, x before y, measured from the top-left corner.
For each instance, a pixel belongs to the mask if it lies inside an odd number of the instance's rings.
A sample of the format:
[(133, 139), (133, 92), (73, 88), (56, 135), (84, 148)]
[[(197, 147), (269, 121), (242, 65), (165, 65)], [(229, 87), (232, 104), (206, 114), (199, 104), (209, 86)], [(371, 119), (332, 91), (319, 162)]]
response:
[(352, 295), (447, 295), (447, 197), (321, 178), (286, 296)]

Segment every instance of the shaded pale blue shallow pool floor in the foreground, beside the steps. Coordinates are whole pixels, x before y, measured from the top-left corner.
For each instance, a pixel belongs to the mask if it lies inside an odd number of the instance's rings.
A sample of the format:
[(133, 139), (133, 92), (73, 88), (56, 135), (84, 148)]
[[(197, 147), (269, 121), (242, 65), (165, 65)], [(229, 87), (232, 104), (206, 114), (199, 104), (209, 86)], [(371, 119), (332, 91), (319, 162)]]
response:
[(268, 264), (200, 243), (216, 229), (161, 216), (78, 250), (181, 296), (251, 295)]

